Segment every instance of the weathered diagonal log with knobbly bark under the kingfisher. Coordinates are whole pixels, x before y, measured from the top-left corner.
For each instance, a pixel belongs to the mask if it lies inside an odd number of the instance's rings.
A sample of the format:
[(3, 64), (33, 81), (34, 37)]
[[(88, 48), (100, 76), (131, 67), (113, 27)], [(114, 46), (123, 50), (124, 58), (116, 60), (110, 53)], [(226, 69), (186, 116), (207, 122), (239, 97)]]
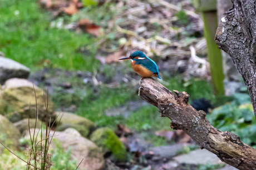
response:
[(256, 150), (243, 143), (234, 133), (221, 132), (188, 104), (186, 92), (175, 94), (152, 78), (140, 81), (141, 99), (158, 107), (161, 117), (169, 117), (171, 128), (185, 131), (200, 147), (213, 152), (221, 161), (238, 169), (256, 169)]

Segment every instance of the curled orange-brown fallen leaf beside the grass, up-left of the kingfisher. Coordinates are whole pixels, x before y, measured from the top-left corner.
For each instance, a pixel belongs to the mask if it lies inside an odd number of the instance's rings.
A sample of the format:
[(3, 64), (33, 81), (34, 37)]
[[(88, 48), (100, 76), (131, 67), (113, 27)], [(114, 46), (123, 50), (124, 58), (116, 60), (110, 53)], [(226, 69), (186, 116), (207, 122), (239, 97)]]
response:
[(81, 19), (78, 25), (83, 31), (93, 34), (96, 37), (102, 35), (102, 32), (100, 32), (101, 27), (93, 24), (89, 19)]

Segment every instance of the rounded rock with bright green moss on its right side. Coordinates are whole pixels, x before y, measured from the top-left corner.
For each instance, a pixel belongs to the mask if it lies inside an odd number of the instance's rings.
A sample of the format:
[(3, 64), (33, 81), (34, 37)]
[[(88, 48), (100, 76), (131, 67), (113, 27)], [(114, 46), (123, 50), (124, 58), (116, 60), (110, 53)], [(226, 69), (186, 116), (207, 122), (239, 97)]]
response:
[(110, 128), (102, 127), (93, 131), (90, 140), (99, 146), (105, 155), (111, 152), (118, 161), (126, 161), (127, 153), (124, 143), (119, 140)]

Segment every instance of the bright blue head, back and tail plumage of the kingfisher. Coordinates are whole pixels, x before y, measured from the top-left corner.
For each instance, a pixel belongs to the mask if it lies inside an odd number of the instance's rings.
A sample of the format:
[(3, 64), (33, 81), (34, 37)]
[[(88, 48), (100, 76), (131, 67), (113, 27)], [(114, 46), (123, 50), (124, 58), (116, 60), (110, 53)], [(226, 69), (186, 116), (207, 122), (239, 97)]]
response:
[(158, 78), (161, 79), (155, 61), (148, 58), (144, 53), (142, 53), (142, 51), (135, 51), (130, 55), (130, 58), (136, 61), (135, 64), (139, 64), (144, 68), (152, 71), (153, 74), (156, 74)]

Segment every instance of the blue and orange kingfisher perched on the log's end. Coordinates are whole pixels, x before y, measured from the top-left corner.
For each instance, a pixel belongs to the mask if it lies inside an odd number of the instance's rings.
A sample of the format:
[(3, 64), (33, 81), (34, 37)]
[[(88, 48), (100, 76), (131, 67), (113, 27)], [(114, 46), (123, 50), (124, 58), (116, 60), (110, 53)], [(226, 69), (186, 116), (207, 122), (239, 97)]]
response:
[(135, 51), (130, 56), (119, 60), (131, 60), (131, 66), (134, 71), (141, 75), (141, 79), (149, 77), (157, 77), (159, 79), (159, 71), (155, 61), (148, 58), (142, 51)]

